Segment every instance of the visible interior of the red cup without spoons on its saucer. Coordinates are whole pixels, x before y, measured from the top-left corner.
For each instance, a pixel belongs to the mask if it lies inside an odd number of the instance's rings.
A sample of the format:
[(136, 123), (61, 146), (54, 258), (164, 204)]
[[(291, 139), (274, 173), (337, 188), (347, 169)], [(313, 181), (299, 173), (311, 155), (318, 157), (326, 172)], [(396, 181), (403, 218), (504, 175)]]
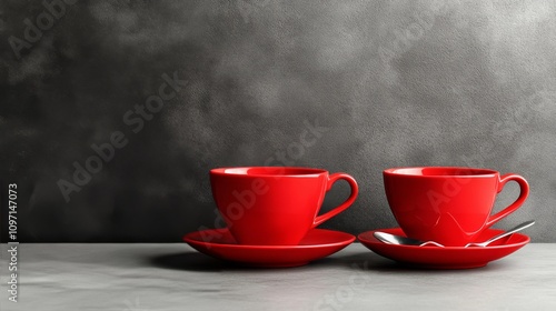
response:
[(307, 177), (325, 173), (325, 170), (310, 168), (282, 168), (282, 167), (246, 167), (246, 168), (221, 168), (214, 169), (211, 173), (224, 175), (246, 177)]

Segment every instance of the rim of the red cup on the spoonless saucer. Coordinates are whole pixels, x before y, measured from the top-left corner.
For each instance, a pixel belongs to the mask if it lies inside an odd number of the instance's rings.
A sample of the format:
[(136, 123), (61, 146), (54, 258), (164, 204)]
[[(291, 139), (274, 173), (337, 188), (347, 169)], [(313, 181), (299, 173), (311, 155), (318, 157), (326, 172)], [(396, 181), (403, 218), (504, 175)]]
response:
[[(267, 169), (282, 169), (289, 171), (296, 171), (297, 173), (247, 173), (248, 170), (267, 170)], [(305, 168), (305, 167), (226, 167), (226, 168), (216, 168), (210, 170), (210, 174), (215, 175), (234, 175), (234, 177), (318, 177), (324, 173), (328, 173), (327, 170), (315, 169), (315, 168)]]

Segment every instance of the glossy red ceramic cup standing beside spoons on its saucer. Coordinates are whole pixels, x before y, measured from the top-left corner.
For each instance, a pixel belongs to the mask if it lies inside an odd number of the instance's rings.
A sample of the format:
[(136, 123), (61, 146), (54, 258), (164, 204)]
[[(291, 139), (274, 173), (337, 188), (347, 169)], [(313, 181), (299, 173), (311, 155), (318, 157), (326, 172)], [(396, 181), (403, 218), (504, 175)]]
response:
[[(474, 168), (394, 168), (383, 172), (388, 204), (407, 237), (444, 245), (465, 245), (504, 217), (516, 211), (529, 194), (517, 174)], [(492, 215), (496, 194), (514, 180), (520, 194)]]

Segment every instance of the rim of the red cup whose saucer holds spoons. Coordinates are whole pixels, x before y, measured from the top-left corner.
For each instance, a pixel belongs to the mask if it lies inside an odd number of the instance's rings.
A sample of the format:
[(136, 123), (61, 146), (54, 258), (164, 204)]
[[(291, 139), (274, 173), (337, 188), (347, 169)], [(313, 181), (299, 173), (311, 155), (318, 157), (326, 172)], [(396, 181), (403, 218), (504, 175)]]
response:
[[(423, 174), (425, 169), (431, 170), (451, 170), (451, 171), (471, 171), (470, 174), (443, 173), (443, 174)], [(391, 177), (413, 177), (413, 178), (492, 178), (498, 174), (498, 171), (492, 169), (471, 168), (471, 167), (398, 167), (389, 168), (383, 171), (384, 175)]]

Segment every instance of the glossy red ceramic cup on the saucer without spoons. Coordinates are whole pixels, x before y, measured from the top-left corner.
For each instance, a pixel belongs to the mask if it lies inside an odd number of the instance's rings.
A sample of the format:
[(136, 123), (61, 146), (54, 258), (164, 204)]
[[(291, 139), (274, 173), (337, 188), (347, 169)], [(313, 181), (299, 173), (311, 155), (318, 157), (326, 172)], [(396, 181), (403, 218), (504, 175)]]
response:
[[(339, 207), (318, 215), (325, 193), (346, 180), (351, 194)], [(218, 210), (240, 244), (296, 245), (307, 232), (346, 210), (358, 187), (346, 173), (284, 167), (220, 168), (210, 170)]]

